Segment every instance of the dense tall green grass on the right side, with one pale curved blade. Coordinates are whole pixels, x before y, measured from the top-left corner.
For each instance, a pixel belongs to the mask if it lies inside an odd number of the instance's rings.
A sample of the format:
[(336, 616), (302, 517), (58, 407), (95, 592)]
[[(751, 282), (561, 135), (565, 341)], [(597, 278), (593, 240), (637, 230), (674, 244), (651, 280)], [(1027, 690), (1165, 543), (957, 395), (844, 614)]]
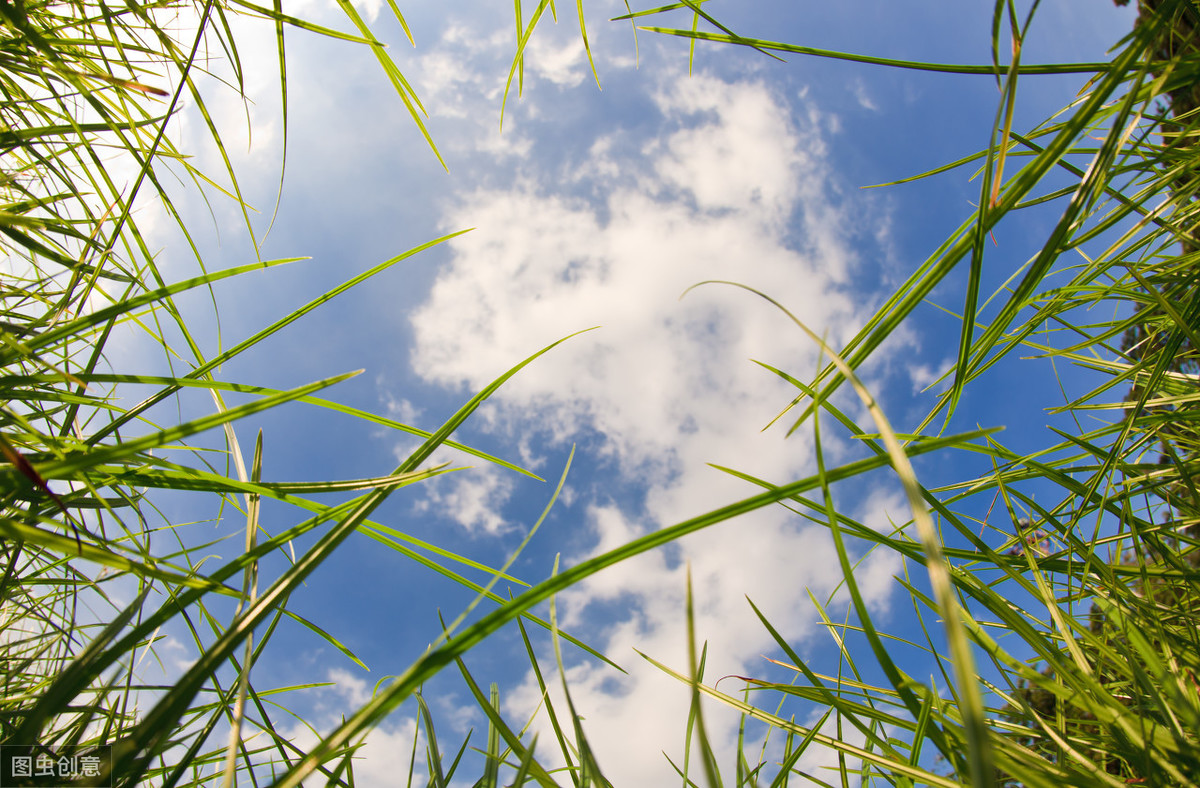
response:
[[(814, 745), (841, 753), (836, 774), (808, 775), (823, 784), (1200, 782), (1200, 456), (1193, 407), (1200, 397), (1194, 145), (1200, 6), (1144, 4), (1139, 24), (1106, 64), (1032, 66), (1020, 55), (1038, 4), (1024, 17), (1013, 4), (996, 4), (995, 61), (979, 66), (743, 37), (698, 4), (673, 6), (680, 7), (718, 29), (643, 29), (768, 53), (990, 73), (1000, 86), (989, 145), (950, 164), (973, 169), (978, 210), (857, 337), (830, 353), (834, 362), (816, 379), (805, 384), (779, 371), (798, 389), (788, 405), (798, 413), (792, 429), (812, 431), (821, 469), (820, 494), (788, 500), (829, 528), (852, 600), (856, 620), (836, 625), (826, 618), (841, 649), (840, 672), (822, 675), (808, 667), (761, 614), (794, 681), (748, 678), (752, 692), (736, 697), (697, 682), (695, 673), (662, 666), (786, 740), (782, 762), (758, 764), (752, 780), (737, 764), (737, 784), (786, 784)], [(1002, 61), (1002, 52), (1012, 58)], [(1013, 126), (1016, 91), (1028, 76), (1074, 72), (1084, 74), (1076, 101), (1033, 128)], [(1067, 186), (1063, 175), (1072, 179)], [(1060, 215), (1040, 249), (1003, 288), (982, 293), (989, 233), (1042, 204)], [(853, 368), (880, 353), (961, 269), (967, 288), (958, 360), (922, 425), (896, 445), (886, 420), (859, 426), (840, 413), (830, 395), (853, 383)], [(960, 443), (988, 458), (992, 470), (940, 488), (919, 486), (904, 455), (936, 439), (962, 392), (1014, 354), (1076, 365), (1106, 379), (1057, 408), (1044, 403), (1073, 417), (1075, 429), (1055, 428), (1057, 443), (1028, 452), (1009, 449), (1000, 435)], [(821, 411), (875, 457), (889, 457), (906, 488), (918, 493), (914, 531), (877, 533), (836, 511), (834, 479), (820, 456)], [(936, 539), (922, 525), (926, 507), (936, 518)], [(980, 511), (989, 512), (986, 519)], [(878, 631), (857, 594), (844, 535), (894, 551), (928, 575), (902, 579), (922, 620), (920, 639)], [(901, 670), (901, 655), (912, 646), (926, 655), (937, 684)], [(880, 672), (882, 684), (864, 679)], [(828, 711), (805, 727), (780, 716), (780, 708)], [(833, 729), (857, 735), (834, 736)]]

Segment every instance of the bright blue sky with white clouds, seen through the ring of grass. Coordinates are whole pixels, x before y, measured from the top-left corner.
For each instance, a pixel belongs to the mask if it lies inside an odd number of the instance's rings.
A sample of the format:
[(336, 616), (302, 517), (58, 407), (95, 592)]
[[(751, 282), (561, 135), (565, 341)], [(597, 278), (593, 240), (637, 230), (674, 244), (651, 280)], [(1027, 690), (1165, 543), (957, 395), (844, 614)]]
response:
[[(262, 210), (252, 223), (263, 255), (312, 258), (217, 287), (224, 345), (388, 257), (474, 228), (227, 365), (223, 379), (284, 387), (362, 368), (329, 396), (431, 429), (517, 361), (601, 326), (522, 371), (458, 435), (550, 483), (467, 458), (473, 470), (407, 488), (376, 517), (499, 564), (545, 505), (574, 444), (564, 495), (515, 566), (529, 581), (548, 576), (556, 554), (570, 565), (755, 492), (707, 463), (776, 482), (814, 471), (809, 431), (786, 440), (782, 422), (762, 431), (794, 390), (751, 362), (805, 379), (816, 371), (812, 343), (744, 291), (706, 287), (682, 301), (679, 295), (703, 279), (743, 282), (780, 300), (832, 344), (844, 343), (978, 199), (967, 170), (883, 190), (862, 187), (984, 148), (998, 101), (995, 82), (985, 77), (800, 56), (779, 62), (732, 47), (698, 46), (689, 76), (684, 41), (642, 32), (635, 55), (629, 23), (608, 22), (624, 4), (584, 5), (602, 90), (588, 70), (574, 8), (564, 6), (558, 24), (547, 19), (536, 34), (524, 96), (510, 95), (503, 133), (511, 6), (404, 8), (415, 48), (386, 7), (361, 6), (428, 109), (428, 128), (449, 172), (370, 53), (289, 31), (286, 180), (265, 236), (282, 152), (269, 26), (239, 23), (252, 103), (227, 89), (212, 92), (211, 108), (241, 186)], [(764, 38), (949, 62), (990, 56), (985, 4), (712, 6), (734, 30)], [(289, 12), (348, 29), (336, 7), (301, 2)], [(680, 16), (672, 24), (686, 26), (690, 19)], [(1128, 11), (1094, 0), (1048, 4), (1022, 58), (1103, 60), (1130, 24)], [(1062, 107), (1084, 82), (1027, 78), (1016, 126)], [(194, 112), (180, 119), (176, 131), (184, 148), (200, 145)], [(209, 173), (221, 167), (215, 151), (204, 148), (198, 164)], [(236, 207), (211, 199), (215, 222), (193, 186), (178, 190), (185, 215), (200, 230), (205, 264), (252, 260)], [(1014, 216), (989, 251), (985, 284), (997, 285), (1022, 264), (1052, 219), (1052, 209)], [(194, 260), (164, 224), (155, 239), (167, 271), (179, 278), (194, 271)], [(932, 300), (958, 309), (960, 287), (952, 281)], [(208, 296), (186, 303), (202, 342), (215, 350)], [(931, 405), (932, 395), (920, 390), (952, 362), (958, 331), (955, 319), (930, 306), (864, 368), (898, 429), (916, 426)], [(148, 372), (161, 367), (161, 359), (136, 341), (127, 353)], [(1052, 378), (1045, 366), (1019, 379), (1010, 372), (996, 371), (970, 393), (956, 425), (1006, 425), (1010, 443), (1038, 440), (1049, 420), (1042, 408), (1052, 402), (1042, 395), (1055, 396)], [(840, 404), (862, 416), (844, 393)], [(203, 399), (184, 405), (192, 407), (209, 405)], [(382, 475), (414, 445), (392, 431), (289, 407), (238, 426), (247, 453), (259, 426), (264, 477), (277, 481)], [(826, 451), (829, 462), (859, 456), (836, 433), (827, 437)], [(452, 452), (442, 459), (463, 462)], [(930, 479), (984, 469), (947, 457), (918, 470), (931, 485)], [(869, 476), (841, 495), (848, 513), (876, 528), (908, 519), (888, 475)], [(192, 506), (191, 499), (172, 499), (167, 511), (188, 521), (214, 516)], [(298, 519), (284, 507), (265, 511), (272, 531)], [(199, 541), (239, 533), (241, 525), (228, 517), (194, 528)], [(709, 643), (710, 675), (767, 673), (761, 655), (770, 642), (746, 595), (802, 654), (828, 654), (805, 591), (822, 601), (834, 592), (836, 558), (826, 531), (782, 509), (697, 534), (564, 594), (564, 627), (629, 672), (620, 675), (577, 651), (566, 654), (576, 704), (617, 786), (662, 784), (672, 774), (662, 751), (674, 756), (683, 740), (686, 693), (632, 649), (684, 668), (686, 566), (697, 594), (698, 633)], [(878, 554), (866, 558), (858, 575), (874, 609), (896, 627), (902, 627), (904, 597), (893, 576), (901, 569), (895, 557)], [(296, 627), (276, 634), (256, 681), (260, 687), (337, 681), (336, 688), (290, 704), (307, 710), (318, 726), (332, 726), (374, 681), (400, 673), (437, 637), (439, 608), (454, 615), (469, 598), (378, 543), (354, 539), (292, 604), (353, 649), (370, 672)], [(164, 644), (166, 652), (186, 660), (182, 633), (172, 637), (178, 645)], [(532, 712), (535, 685), (511, 633), (497, 636), (469, 664), (481, 681), (500, 682), (514, 718)], [(474, 726), (473, 742), (482, 746), (484, 723), (469, 711), (473, 704), (460, 682), (448, 679), (428, 694), (448, 730), (461, 738)], [(395, 775), (407, 771), (414, 712), (406, 706), (371, 735), (356, 766), (360, 784), (396, 784)], [(732, 723), (728, 716), (715, 718), (718, 739), (732, 741)], [(298, 728), (296, 735), (302, 740), (305, 734)], [(732, 764), (731, 753), (730, 747), (719, 753), (724, 765)]]

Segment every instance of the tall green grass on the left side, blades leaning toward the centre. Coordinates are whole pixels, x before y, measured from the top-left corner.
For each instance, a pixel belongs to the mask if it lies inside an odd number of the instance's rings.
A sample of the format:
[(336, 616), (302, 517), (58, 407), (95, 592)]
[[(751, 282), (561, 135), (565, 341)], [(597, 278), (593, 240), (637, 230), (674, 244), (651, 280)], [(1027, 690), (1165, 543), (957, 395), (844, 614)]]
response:
[[(373, 52), (440, 160), (412, 86), (355, 8), (342, 7), (356, 32), (298, 19), (280, 4), (101, 0), (0, 8), (0, 242), (6, 254), (0, 279), (0, 744), (8, 754), (17, 747), (36, 754), (64, 746), (85, 754), (110, 752), (97, 777), (103, 784), (229, 783), (238, 775), (262, 780), (271, 774), (295, 784), (312, 772), (352, 784), (349, 754), (386, 708), (376, 709), (367, 722), (355, 717), (324, 742), (318, 758), (305, 757), (276, 727), (281, 711), (275, 697), (287, 688), (264, 693), (253, 680), (253, 664), (277, 625), (299, 618), (288, 609), (288, 596), (355, 531), (461, 583), (479, 600), (503, 602), (467, 573), (516, 582), (500, 569), (424, 543), (370, 516), (389, 495), (455, 470), (428, 465), (439, 447), (532, 476), (449, 437), (498, 385), (550, 348), (517, 363), (433, 431), (318, 396), (355, 371), (336, 371), (286, 391), (218, 375), (227, 361), (452, 235), (352, 276), (216, 355), (205, 355), (209, 337), (193, 336), (176, 307), (175, 299), (190, 290), (294, 261), (259, 259), (211, 270), (163, 186), (182, 176), (234, 199), (254, 239), (238, 173), (208, 109), (211, 95), (202, 89), (216, 84), (202, 79), (210, 52), (223, 52), (233, 73), (228, 82), (242, 84), (235, 31), (244, 25), (275, 29), (284, 139), (286, 36), (326, 35)], [(173, 121), (185, 103), (222, 156), (220, 176), (194, 169), (188, 151), (174, 146)], [(192, 243), (193, 276), (167, 281), (138, 223), (146, 210), (174, 218)], [(110, 368), (114, 337), (131, 332), (158, 345), (170, 374)], [(193, 389), (211, 397), (205, 415), (155, 423), (170, 413), (158, 403)], [(241, 404), (226, 404), (230, 392)], [(293, 402), (358, 416), (421, 443), (377, 477), (265, 482), (264, 437), (251, 453), (234, 422)], [(215, 464), (210, 431), (224, 439)], [(197, 545), (182, 523), (162, 523), (158, 491), (203, 494), (216, 506), (240, 511), (244, 551), (224, 565), (205, 564), (208, 545)], [(346, 493), (354, 497), (347, 500)], [(341, 503), (328, 503), (331, 497)], [(290, 504), (293, 523), (280, 533), (265, 530), (258, 519), (263, 498)], [(289, 552), (306, 534), (313, 535), (312, 546)], [(276, 552), (288, 555), (284, 569), (262, 576), (260, 559)], [(504, 621), (527, 608), (509, 608)], [(301, 622), (346, 651), (314, 622)], [(167, 626), (191, 631), (199, 656), (172, 686), (146, 684), (137, 664), (154, 661), (158, 633)], [(385, 705), (412, 697), (443, 666), (414, 666), (408, 674), (413, 680), (388, 694)]]

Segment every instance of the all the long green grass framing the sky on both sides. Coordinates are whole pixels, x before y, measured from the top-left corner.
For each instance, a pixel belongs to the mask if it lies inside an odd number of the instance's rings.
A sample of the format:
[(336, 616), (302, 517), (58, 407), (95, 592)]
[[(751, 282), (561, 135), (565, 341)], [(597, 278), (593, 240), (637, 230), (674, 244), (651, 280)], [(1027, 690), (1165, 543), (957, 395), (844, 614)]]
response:
[[(515, 579), (508, 575), (515, 555), (502, 566), (481, 567), (372, 522), (371, 515), (409, 485), (451, 473), (428, 465), (440, 446), (529, 474), (455, 444), (450, 435), (500, 385), (559, 343), (515, 365), (432, 432), (328, 398), (324, 390), (353, 371), (286, 391), (222, 380), (217, 371), (226, 361), (451, 236), (355, 275), (209, 356), (188, 330), (176, 296), (293, 260), (209, 270), (197, 252), (199, 273), (169, 283), (137, 223), (137, 209), (155, 200), (178, 219), (162, 186), (168, 174), (198, 186), (216, 182), (193, 168), (168, 133), (186, 96), (222, 152), (222, 190), (241, 209), (253, 237), (238, 175), (206, 110), (208, 96), (198, 86), (203, 67), (198, 53), (205, 48), (226, 52), (235, 83), (240, 82), (236, 16), (259, 18), (276, 31), (284, 138), (284, 42), (302, 30), (368, 47), (440, 160), (420, 98), (354, 7), (341, 7), (354, 34), (287, 16), (278, 6), (236, 0), (155, 7), (0, 6), (5, 29), (0, 233), (8, 255), (0, 291), (5, 458), (0, 464), (0, 658), (5, 662), (0, 742), (74, 745), (88, 751), (112, 746), (112, 772), (106, 778), (113, 784), (208, 783), (218, 771), (226, 782), (353, 784), (350, 756), (366, 733), (412, 700), (419, 709), (431, 784), (461, 781), (460, 769), (467, 764), (481, 764), (480, 786), (550, 786), (562, 780), (607, 784), (569, 684), (563, 684), (565, 708), (547, 709), (551, 746), (566, 764), (565, 771), (556, 772), (535, 753), (529, 726), (500, 714), (496, 685), (485, 691), (470, 673), (466, 660), (472, 649), (515, 624), (551, 706), (550, 681), (527, 626), (550, 632), (562, 668), (558, 643), (570, 636), (557, 625), (557, 592), (689, 533), (784, 505), (826, 525), (838, 548), (853, 616), (835, 622), (814, 600), (836, 644), (838, 667), (822, 674), (808, 666), (796, 645), (754, 607), (779, 646), (778, 664), (794, 680), (746, 678), (745, 692), (722, 692), (703, 680), (706, 650), (689, 627), (689, 664), (680, 669), (655, 663), (692, 692), (691, 715), (680, 724), (695, 741), (700, 768), (677, 764), (685, 784), (774, 787), (805, 778), (901, 786), (1200, 782), (1195, 656), (1200, 654), (1195, 634), (1200, 455), (1193, 407), (1200, 299), (1194, 272), (1196, 108), (1189, 103), (1192, 86), (1200, 82), (1192, 34), (1195, 2), (1146, 4), (1141, 23), (1106, 62), (1052, 65), (1020, 59), (1022, 40), (1037, 24), (1036, 4), (1025, 16), (1012, 4), (996, 4), (995, 60), (977, 65), (884, 60), (742, 37), (690, 0), (631, 10), (622, 17), (644, 31), (685, 37), (692, 46), (709, 42), (881, 67), (974, 73), (997, 82), (1000, 100), (989, 145), (950, 164), (978, 176), (978, 209), (858, 336), (842, 348), (822, 344), (830, 361), (812, 379), (768, 367), (797, 389), (794, 399), (781, 403), (780, 416), (791, 414), (792, 432), (812, 432), (816, 473), (772, 485), (722, 469), (744, 480), (755, 494), (556, 572), (512, 598), (496, 594), (494, 584)], [(400, 11), (391, 8), (407, 31)], [(548, 2), (539, 2), (532, 13), (520, 0), (515, 5), (517, 42), (509, 83), (515, 82), (518, 92), (526, 46), (547, 10), (557, 13)], [(587, 43), (582, 2), (576, 12)], [(646, 24), (674, 12), (688, 13), (692, 24)], [(1000, 53), (1013, 55), (1006, 61)], [(1045, 73), (1079, 74), (1078, 100), (1036, 127), (1014, 128), (1019, 86)], [(1064, 178), (1068, 186), (1062, 186)], [(985, 295), (988, 235), (1024, 207), (1044, 204), (1058, 211), (1058, 219), (1040, 251), (1010, 282)], [(187, 227), (181, 223), (180, 229), (190, 237)], [(944, 393), (919, 427), (898, 434), (854, 371), (880, 353), (950, 276), (965, 276), (967, 282), (956, 361), (947, 373)], [(772, 301), (770, 294), (760, 295)], [(145, 332), (180, 372), (107, 371), (107, 347), (130, 327)], [(820, 343), (798, 320), (797, 329)], [(1009, 449), (992, 428), (946, 434), (967, 387), (1013, 354), (1079, 365), (1106, 378), (1060, 407), (1075, 429), (1060, 431), (1057, 443), (1036, 451)], [(856, 423), (836, 407), (833, 395), (844, 383), (866, 404), (870, 423)], [(121, 396), (130, 386), (150, 393), (131, 404)], [(211, 411), (180, 423), (151, 421), (168, 413), (156, 405), (192, 389), (211, 397)], [(239, 396), (240, 404), (226, 404), (229, 392)], [(421, 444), (395, 469), (373, 479), (264, 482), (263, 438), (246, 452), (247, 464), (235, 422), (292, 402), (403, 431)], [(210, 464), (214, 455), (202, 440), (217, 428), (224, 441), (220, 455), (224, 468)], [(830, 428), (853, 435), (863, 456), (827, 467), (821, 438), (822, 429)], [(923, 486), (911, 458), (948, 449), (986, 458), (991, 471), (938, 488)], [(902, 481), (913, 528), (880, 533), (838, 511), (836, 486), (883, 468), (894, 469)], [(211, 567), (200, 560), (205, 546), (190, 545), (173, 533), (176, 524), (151, 527), (161, 519), (155, 491), (194, 491), (236, 509), (246, 522), (241, 554)], [(326, 503), (347, 492), (354, 497)], [(263, 498), (290, 504), (295, 523), (268, 533), (258, 519)], [(980, 522), (982, 510), (995, 516)], [(1010, 527), (996, 527), (997, 522)], [(277, 691), (260, 690), (251, 668), (278, 624), (295, 618), (287, 606), (289, 595), (354, 533), (373, 536), (463, 584), (475, 601), (420, 658), (301, 752), (275, 722)], [(282, 571), (259, 575), (264, 557), (286, 551), (305, 535), (308, 547), (289, 557)], [(872, 549), (905, 559), (907, 575), (901, 579), (920, 622), (919, 639), (911, 634), (902, 639), (872, 620), (857, 589), (851, 540), (865, 540)], [(482, 569), (492, 581), (475, 583), (464, 567)], [(163, 602), (155, 606), (152, 598)], [(689, 622), (690, 598), (689, 588)], [(1018, 606), (1013, 600), (1024, 602)], [(545, 602), (551, 602), (548, 619), (534, 613)], [(103, 604), (107, 612), (86, 616), (80, 604)], [(486, 612), (468, 618), (476, 604)], [(199, 658), (172, 686), (145, 685), (137, 661), (152, 650), (156, 632), (169, 622), (196, 632)], [(331, 638), (330, 644), (344, 650)], [(905, 654), (913, 649), (936, 682), (906, 673), (911, 662)], [(449, 760), (438, 746), (436, 721), (420, 692), (448, 668), (457, 669), (488, 721), (481, 759), (463, 759), (467, 742)], [(728, 770), (722, 775), (702, 697), (764, 723), (782, 742), (780, 757), (768, 763), (743, 741), (733, 776)], [(797, 709), (812, 708), (823, 710), (815, 724), (794, 722)], [(247, 744), (251, 730), (260, 744)], [(822, 747), (839, 753), (836, 774), (802, 774), (803, 756)]]

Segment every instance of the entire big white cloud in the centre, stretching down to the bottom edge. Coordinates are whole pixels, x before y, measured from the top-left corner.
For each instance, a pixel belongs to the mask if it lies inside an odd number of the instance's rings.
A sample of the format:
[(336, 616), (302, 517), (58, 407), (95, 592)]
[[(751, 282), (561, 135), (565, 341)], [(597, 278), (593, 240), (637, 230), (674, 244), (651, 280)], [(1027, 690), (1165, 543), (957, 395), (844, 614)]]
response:
[[(582, 142), (588, 160), (574, 180), (582, 188), (564, 192), (527, 174), (509, 188), (458, 200), (445, 224), (478, 229), (452, 242), (451, 260), (412, 318), (414, 369), (475, 389), (557, 338), (602, 326), (506, 384), (492, 421), (497, 429), (526, 425), (522, 434), (534, 423), (552, 441), (581, 431), (602, 435), (620, 483), (642, 494), (632, 504), (593, 494), (580, 509), (590, 554), (756, 492), (708, 462), (775, 482), (811, 469), (803, 437), (785, 441), (778, 428), (762, 432), (796, 390), (750, 359), (804, 378), (816, 369), (816, 348), (760, 299), (706, 287), (680, 301), (686, 288), (706, 279), (752, 285), (832, 344), (863, 317), (845, 287), (856, 266), (853, 239), (842, 229), (848, 222), (838, 207), (820, 113), (811, 106), (794, 112), (760, 83), (712, 76), (664, 80), (654, 104), (658, 136), (640, 149), (605, 137)], [(894, 503), (871, 498), (862, 515), (878, 518)], [(463, 504), (472, 518), (473, 504)], [(864, 563), (874, 603), (886, 600), (898, 569), (887, 557)], [(685, 668), (688, 571), (713, 676), (761, 666), (758, 655), (772, 648), (746, 596), (786, 637), (802, 638), (818, 618), (802, 603), (805, 589), (826, 598), (841, 581), (827, 534), (772, 510), (625, 561), (563, 594), (564, 625), (584, 628), (630, 669), (614, 682), (604, 667), (569, 668), (616, 784), (655, 786), (672, 774), (660, 747), (682, 742), (686, 688), (632, 649)], [(530, 680), (510, 696), (510, 709), (527, 715), (539, 699)], [(714, 720), (718, 739), (731, 741), (724, 734), (736, 721)], [(722, 754), (730, 763), (732, 753)]]

